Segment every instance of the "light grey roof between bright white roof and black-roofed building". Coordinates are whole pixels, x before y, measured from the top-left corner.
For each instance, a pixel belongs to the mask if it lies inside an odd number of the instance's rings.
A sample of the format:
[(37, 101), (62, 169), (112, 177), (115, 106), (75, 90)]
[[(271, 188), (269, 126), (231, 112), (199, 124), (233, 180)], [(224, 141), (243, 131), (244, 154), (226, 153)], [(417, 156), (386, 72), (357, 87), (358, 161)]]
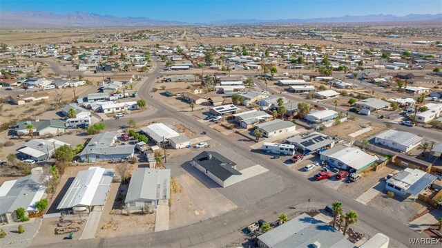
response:
[(171, 170), (140, 168), (132, 173), (124, 203), (171, 198)]

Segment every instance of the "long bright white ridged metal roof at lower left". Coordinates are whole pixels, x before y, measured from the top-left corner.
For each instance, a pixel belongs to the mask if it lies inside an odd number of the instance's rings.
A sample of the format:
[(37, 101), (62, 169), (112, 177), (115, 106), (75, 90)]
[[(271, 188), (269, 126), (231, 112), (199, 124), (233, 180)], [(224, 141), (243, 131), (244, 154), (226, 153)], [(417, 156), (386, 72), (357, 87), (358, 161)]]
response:
[(77, 206), (103, 206), (115, 170), (99, 166), (79, 171), (57, 209)]

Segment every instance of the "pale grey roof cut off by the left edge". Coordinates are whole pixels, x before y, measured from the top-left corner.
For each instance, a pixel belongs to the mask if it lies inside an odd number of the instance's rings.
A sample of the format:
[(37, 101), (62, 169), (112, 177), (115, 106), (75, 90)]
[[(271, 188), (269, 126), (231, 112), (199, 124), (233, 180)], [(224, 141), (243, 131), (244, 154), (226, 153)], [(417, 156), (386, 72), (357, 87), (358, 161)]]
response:
[(46, 191), (41, 175), (26, 175), (17, 180), (6, 181), (0, 187), (0, 214), (12, 213), (19, 207), (35, 209)]

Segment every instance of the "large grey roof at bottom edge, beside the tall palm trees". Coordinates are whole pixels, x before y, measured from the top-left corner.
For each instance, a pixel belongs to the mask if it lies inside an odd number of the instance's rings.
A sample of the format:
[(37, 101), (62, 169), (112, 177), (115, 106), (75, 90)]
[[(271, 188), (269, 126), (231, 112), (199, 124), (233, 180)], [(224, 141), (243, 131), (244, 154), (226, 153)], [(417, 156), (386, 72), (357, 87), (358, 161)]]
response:
[(310, 217), (307, 213), (258, 236), (261, 242), (272, 248), (312, 247), (319, 242), (321, 247), (354, 247), (345, 236), (332, 225)]

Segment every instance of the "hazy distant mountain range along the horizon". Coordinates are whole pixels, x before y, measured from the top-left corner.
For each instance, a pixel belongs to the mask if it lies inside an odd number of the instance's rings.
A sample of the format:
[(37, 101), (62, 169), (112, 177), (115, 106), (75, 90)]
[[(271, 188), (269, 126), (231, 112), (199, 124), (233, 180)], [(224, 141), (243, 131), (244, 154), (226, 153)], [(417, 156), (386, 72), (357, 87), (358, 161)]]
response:
[(209, 23), (184, 23), (164, 21), (146, 17), (113, 17), (88, 12), (56, 14), (53, 12), (0, 12), (0, 28), (99, 28), (99, 27), (141, 27), (141, 26), (192, 26), (222, 24), (267, 24), (267, 23), (366, 23), (366, 22), (416, 22), (436, 21), (442, 23), (442, 14), (416, 15), (405, 17), (395, 15), (364, 15), (345, 17), (322, 17), (311, 19), (226, 19)]

